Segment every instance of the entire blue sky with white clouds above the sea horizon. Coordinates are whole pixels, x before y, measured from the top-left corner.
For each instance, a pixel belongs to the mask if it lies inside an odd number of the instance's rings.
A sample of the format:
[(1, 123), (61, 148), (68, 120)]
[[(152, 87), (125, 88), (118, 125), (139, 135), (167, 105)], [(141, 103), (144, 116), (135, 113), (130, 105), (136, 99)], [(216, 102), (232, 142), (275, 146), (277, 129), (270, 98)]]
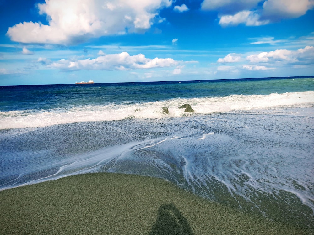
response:
[(0, 0), (0, 85), (314, 75), (314, 0)]

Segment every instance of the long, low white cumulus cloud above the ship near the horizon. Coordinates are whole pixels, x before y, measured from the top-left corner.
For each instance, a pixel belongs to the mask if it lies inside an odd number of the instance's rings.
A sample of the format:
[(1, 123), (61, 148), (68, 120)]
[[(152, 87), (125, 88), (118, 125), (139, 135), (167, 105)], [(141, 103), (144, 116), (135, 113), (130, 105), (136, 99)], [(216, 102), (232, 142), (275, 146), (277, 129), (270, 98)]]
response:
[(49, 65), (49, 68), (65, 71), (72, 70), (131, 70), (173, 67), (178, 61), (171, 58), (146, 58), (143, 54), (129, 55), (127, 52), (99, 56), (95, 59), (84, 60), (59, 60)]

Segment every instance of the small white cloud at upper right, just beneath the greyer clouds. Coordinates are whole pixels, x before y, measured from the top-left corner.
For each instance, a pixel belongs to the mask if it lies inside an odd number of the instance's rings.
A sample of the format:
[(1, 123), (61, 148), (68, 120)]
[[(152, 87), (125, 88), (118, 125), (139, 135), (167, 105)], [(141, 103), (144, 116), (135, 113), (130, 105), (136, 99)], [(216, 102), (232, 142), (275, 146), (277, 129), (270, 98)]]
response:
[(236, 26), (238, 24), (245, 24), (246, 26), (259, 26), (268, 24), (268, 20), (259, 20), (260, 16), (256, 11), (241, 11), (235, 15), (224, 15), (220, 18), (219, 24), (221, 26)]

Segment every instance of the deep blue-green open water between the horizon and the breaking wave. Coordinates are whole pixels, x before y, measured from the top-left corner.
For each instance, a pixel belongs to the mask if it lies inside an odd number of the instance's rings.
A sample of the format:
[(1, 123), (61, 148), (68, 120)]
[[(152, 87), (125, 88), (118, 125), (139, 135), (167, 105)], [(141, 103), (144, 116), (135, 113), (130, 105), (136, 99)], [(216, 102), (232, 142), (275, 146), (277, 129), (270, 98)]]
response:
[[(311, 78), (260, 78), (138, 83), (95, 83), (89, 85), (0, 86), (0, 111), (51, 109), (106, 103), (140, 103), (173, 98), (222, 97), (230, 94), (313, 91)], [(300, 80), (302, 79), (302, 80)], [(302, 82), (300, 82), (302, 81)]]

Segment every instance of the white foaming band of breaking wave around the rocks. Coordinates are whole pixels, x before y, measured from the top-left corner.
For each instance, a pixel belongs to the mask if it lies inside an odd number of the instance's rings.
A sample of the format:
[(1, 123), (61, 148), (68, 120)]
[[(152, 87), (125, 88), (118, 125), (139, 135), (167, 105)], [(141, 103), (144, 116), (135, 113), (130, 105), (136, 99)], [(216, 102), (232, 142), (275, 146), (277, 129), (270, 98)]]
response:
[[(183, 104), (190, 104), (197, 114), (251, 110), (288, 105), (313, 104), (314, 91), (270, 95), (229, 95), (225, 97), (174, 98), (165, 101), (59, 107), (50, 110), (13, 110), (0, 112), (0, 129), (45, 127), (88, 121), (113, 121), (127, 118), (165, 118), (186, 115)], [(169, 114), (163, 114), (167, 107)]]

